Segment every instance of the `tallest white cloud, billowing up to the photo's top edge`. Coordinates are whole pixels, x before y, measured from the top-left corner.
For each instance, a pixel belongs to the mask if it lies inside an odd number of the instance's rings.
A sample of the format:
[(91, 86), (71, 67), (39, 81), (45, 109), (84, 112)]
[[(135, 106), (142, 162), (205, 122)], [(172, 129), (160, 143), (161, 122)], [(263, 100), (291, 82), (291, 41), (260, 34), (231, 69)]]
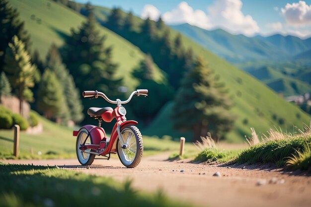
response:
[(208, 10), (209, 18), (214, 27), (227, 29), (232, 33), (241, 33), (248, 36), (260, 31), (258, 24), (250, 15), (241, 11), (241, 0), (216, 0)]

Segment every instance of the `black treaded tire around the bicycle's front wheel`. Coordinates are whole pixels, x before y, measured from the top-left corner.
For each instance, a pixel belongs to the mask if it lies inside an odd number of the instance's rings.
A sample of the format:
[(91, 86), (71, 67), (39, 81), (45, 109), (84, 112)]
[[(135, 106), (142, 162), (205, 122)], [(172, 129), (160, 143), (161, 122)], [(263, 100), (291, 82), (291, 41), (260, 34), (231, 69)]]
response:
[(128, 127), (123, 128), (121, 131), (121, 134), (124, 134), (125, 131), (128, 131), (128, 132), (131, 131), (133, 133), (133, 135), (135, 136), (135, 140), (136, 140), (135, 157), (131, 161), (124, 160), (125, 159), (124, 150), (126, 150), (126, 149), (123, 150), (121, 148), (121, 141), (119, 140), (119, 138), (117, 140), (117, 145), (116, 145), (117, 153), (118, 153), (118, 156), (119, 156), (121, 163), (124, 166), (126, 166), (128, 168), (133, 168), (133, 167), (136, 167), (141, 162), (142, 157), (143, 157), (143, 151), (144, 151), (143, 137), (142, 137), (142, 134), (139, 131), (139, 129), (135, 126), (128, 126)]

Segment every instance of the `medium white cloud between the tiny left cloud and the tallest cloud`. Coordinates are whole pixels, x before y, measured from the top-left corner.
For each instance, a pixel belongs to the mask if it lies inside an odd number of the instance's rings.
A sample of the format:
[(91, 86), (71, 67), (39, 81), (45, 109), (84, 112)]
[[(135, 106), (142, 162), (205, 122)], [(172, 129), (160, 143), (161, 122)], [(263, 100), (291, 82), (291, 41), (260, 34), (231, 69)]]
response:
[(163, 21), (168, 24), (189, 23), (204, 29), (211, 28), (209, 18), (202, 10), (194, 10), (187, 2), (183, 1), (171, 11), (167, 11), (162, 15)]

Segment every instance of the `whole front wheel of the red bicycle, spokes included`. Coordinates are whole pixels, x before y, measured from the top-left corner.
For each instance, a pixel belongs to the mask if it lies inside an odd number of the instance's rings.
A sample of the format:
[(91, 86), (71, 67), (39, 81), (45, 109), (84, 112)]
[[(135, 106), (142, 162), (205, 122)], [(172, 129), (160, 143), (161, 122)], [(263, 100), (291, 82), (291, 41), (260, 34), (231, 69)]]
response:
[[(117, 152), (120, 161), (126, 167), (136, 167), (142, 160), (144, 144), (139, 129), (135, 126), (125, 127), (117, 140)], [(123, 143), (122, 143), (123, 142)]]

